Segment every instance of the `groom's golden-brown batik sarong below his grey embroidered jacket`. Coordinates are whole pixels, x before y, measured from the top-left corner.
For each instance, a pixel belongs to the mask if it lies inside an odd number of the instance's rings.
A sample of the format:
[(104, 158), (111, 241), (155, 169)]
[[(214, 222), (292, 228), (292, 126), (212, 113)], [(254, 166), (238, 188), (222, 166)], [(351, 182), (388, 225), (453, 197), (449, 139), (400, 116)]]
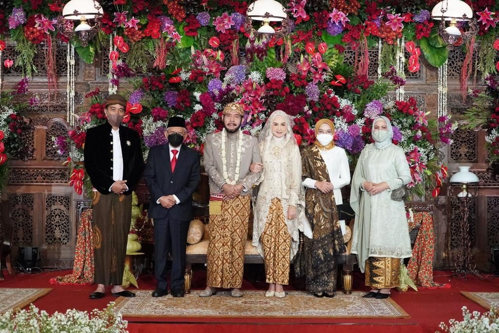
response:
[(210, 287), (241, 288), (245, 243), (250, 219), (250, 195), (221, 201), (221, 213), (211, 214), (207, 281)]

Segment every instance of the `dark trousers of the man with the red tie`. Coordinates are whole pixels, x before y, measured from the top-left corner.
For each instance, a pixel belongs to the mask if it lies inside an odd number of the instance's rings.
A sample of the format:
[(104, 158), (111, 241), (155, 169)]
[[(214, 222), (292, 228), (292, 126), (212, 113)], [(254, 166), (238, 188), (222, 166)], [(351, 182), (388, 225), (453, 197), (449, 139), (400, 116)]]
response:
[(170, 288), (184, 289), (187, 232), (190, 221), (177, 221), (170, 217), (154, 219), (154, 275), (158, 288), (167, 289), (166, 262), (172, 257)]

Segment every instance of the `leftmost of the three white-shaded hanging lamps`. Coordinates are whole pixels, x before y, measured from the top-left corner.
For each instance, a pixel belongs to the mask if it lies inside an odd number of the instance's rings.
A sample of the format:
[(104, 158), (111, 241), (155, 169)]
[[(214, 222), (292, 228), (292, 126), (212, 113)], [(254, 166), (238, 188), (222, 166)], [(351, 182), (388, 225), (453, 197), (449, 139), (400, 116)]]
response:
[[(81, 45), (85, 47), (100, 30), (103, 14), (102, 6), (96, 0), (70, 0), (64, 5), (62, 16), (57, 18), (57, 27), (67, 38), (76, 33)], [(76, 20), (79, 20), (80, 24), (73, 31), (73, 21)], [(91, 21), (93, 25), (90, 25)]]

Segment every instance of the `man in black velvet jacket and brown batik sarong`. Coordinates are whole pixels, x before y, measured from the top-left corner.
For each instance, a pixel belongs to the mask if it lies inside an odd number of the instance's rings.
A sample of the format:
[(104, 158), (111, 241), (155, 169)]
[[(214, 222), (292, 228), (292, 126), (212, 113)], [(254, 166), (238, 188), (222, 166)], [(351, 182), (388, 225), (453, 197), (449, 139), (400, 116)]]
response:
[(110, 95), (105, 104), (107, 122), (87, 130), (84, 146), (85, 170), (97, 191), (93, 199), (94, 283), (91, 299), (104, 297), (113, 285), (115, 296), (134, 297), (121, 287), (126, 245), (132, 215), (132, 191), (144, 170), (137, 132), (120, 126), (126, 99)]

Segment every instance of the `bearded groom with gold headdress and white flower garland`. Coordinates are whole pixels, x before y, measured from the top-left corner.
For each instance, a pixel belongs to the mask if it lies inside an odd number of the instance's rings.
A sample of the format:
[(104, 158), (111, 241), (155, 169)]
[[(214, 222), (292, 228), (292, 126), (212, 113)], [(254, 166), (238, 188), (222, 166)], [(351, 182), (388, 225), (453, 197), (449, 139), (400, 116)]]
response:
[(229, 103), (223, 111), (222, 132), (206, 136), (204, 165), (210, 183), (210, 243), (207, 253), (207, 287), (200, 297), (210, 297), (216, 288), (232, 288), (232, 297), (242, 297), (245, 242), (250, 219), (251, 187), (259, 172), (251, 163), (261, 163), (258, 142), (244, 134), (243, 105)]

